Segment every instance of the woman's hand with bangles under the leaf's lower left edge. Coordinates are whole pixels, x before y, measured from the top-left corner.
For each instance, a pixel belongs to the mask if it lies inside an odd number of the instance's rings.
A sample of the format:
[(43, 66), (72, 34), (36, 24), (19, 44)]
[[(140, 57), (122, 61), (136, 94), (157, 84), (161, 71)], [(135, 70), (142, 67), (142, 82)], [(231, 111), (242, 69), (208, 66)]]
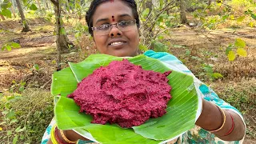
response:
[[(60, 138), (60, 140), (62, 142), (66, 142), (65, 139), (62, 138), (62, 134), (60, 133), (60, 130), (58, 130), (57, 134), (58, 134), (58, 138)], [(83, 141), (89, 141), (89, 139), (82, 137), (81, 135), (74, 132), (74, 130), (63, 130), (63, 134), (66, 136), (67, 139), (69, 139), (70, 141), (73, 141), (73, 142), (78, 141), (78, 139), (81, 139)], [(52, 143), (53, 142), (51, 141), (51, 138), (50, 138), (49, 141), (47, 142), (47, 144), (52, 144)]]

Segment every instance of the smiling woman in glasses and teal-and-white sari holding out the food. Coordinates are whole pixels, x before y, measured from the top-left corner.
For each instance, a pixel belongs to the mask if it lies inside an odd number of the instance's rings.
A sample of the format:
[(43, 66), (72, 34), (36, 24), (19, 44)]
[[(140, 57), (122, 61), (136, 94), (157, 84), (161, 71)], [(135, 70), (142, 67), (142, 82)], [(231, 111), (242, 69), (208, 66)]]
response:
[[(89, 32), (94, 38), (97, 49), (102, 54), (110, 54), (118, 57), (135, 56), (138, 52), (140, 26), (137, 5), (134, 0), (94, 0), (86, 14), (86, 22)], [(170, 66), (173, 70), (191, 74), (182, 62), (173, 55), (167, 53), (155, 53), (150, 50), (146, 56), (157, 58)], [(245, 135), (245, 124), (242, 114), (233, 106), (228, 105), (206, 85), (194, 77), (198, 90), (202, 92), (202, 114), (196, 121), (198, 127), (183, 134), (175, 142), (181, 143), (206, 143), (225, 141), (240, 141)], [(50, 129), (48, 126), (42, 143), (52, 143)], [(58, 142), (72, 143), (82, 139), (73, 130), (58, 130), (56, 128)], [(194, 136), (196, 135), (196, 136)], [(242, 141), (240, 141), (242, 142)], [(235, 142), (230, 142), (235, 143)], [(238, 142), (239, 143), (239, 142)]]

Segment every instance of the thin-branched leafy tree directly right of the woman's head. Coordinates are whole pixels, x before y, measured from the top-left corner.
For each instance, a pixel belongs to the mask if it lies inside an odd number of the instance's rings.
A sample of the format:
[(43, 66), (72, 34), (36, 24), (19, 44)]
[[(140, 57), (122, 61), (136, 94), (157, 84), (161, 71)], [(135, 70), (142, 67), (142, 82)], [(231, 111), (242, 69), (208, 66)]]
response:
[[(170, 16), (167, 11), (173, 9), (175, 1), (142, 1), (138, 2), (138, 11), (141, 19), (141, 42), (139, 49), (146, 51), (155, 50), (160, 34), (170, 27)], [(151, 9), (151, 10), (150, 10)]]

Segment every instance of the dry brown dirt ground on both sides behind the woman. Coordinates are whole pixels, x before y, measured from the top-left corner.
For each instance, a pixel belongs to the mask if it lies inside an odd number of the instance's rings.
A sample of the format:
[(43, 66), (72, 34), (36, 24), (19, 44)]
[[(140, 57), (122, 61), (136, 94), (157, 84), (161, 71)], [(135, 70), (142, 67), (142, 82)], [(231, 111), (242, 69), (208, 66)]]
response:
[[(34, 87), (44, 87), (50, 90), (51, 74), (54, 71), (55, 44), (53, 24), (43, 19), (31, 20), (32, 32), (21, 33), (18, 22), (0, 22), (0, 46), (5, 42), (19, 42), (21, 48), (0, 52), (0, 91), (7, 90), (12, 81), (26, 80)], [(70, 35), (74, 40), (74, 36)], [(246, 58), (239, 57), (234, 62), (229, 62), (225, 55), (225, 46), (234, 43), (234, 38), (242, 38), (246, 41)], [(252, 85), (256, 86), (256, 29), (244, 28), (239, 30), (222, 29), (213, 30), (208, 34), (182, 26), (174, 28), (166, 41), (170, 42), (170, 51), (182, 60), (203, 82), (206, 82), (218, 93), (226, 86)], [(210, 63), (214, 71), (221, 73), (224, 78), (210, 82), (202, 77), (202, 62), (192, 57), (186, 57), (186, 50), (190, 50), (190, 56), (201, 58)], [(216, 56), (217, 54), (217, 56)], [(79, 52), (73, 50), (62, 55), (63, 66), (66, 62), (78, 62)], [(38, 71), (34, 65), (38, 64)], [(195, 66), (198, 65), (198, 66)], [(255, 94), (252, 94), (255, 96)], [(255, 97), (252, 98), (255, 101)], [(250, 129), (255, 133), (256, 116), (251, 110), (245, 114)], [(253, 130), (254, 129), (254, 130)], [(256, 136), (247, 137), (245, 143), (256, 143)]]

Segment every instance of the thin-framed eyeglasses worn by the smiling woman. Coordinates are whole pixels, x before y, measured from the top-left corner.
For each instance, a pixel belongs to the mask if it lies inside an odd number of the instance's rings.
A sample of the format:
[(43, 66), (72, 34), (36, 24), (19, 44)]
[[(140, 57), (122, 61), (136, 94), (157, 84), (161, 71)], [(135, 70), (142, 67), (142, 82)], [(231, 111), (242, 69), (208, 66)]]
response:
[(103, 24), (101, 26), (91, 27), (94, 30), (95, 35), (106, 35), (110, 34), (110, 30), (115, 25), (121, 31), (129, 31), (134, 28), (134, 24), (136, 23), (136, 19), (130, 21), (121, 21), (115, 24)]

